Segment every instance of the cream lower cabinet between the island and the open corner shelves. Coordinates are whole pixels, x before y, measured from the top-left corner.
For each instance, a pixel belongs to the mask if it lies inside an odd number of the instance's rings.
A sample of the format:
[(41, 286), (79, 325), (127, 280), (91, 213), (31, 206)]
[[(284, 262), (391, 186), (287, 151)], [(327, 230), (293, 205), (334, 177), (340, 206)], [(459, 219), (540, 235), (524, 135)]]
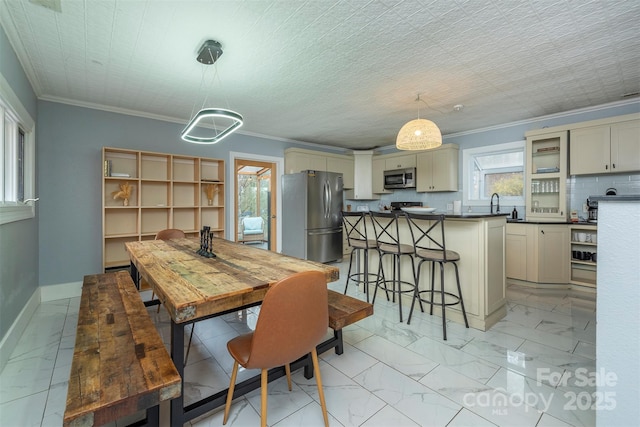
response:
[(534, 283), (569, 283), (566, 224), (507, 224), (507, 278)]

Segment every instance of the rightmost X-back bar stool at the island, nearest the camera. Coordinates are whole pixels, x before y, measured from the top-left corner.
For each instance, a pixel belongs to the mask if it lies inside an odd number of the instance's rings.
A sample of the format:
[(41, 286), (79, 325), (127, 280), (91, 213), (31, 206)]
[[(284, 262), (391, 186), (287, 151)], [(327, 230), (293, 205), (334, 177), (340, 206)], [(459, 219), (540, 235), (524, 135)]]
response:
[[(430, 214), (407, 214), (407, 220), (409, 222), (409, 229), (411, 230), (411, 236), (413, 238), (413, 246), (415, 247), (414, 256), (420, 259), (418, 263), (418, 270), (416, 271), (416, 288), (411, 302), (411, 309), (409, 310), (409, 319), (407, 324), (411, 322), (411, 315), (416, 300), (420, 302), (420, 309), (422, 309), (422, 303), (425, 302), (431, 306), (429, 314), (433, 315), (433, 306), (439, 305), (442, 309), (442, 333), (444, 340), (447, 340), (447, 319), (445, 315), (445, 307), (460, 304), (462, 309), (462, 316), (464, 317), (464, 324), (468, 328), (469, 322), (467, 321), (467, 313), (464, 309), (464, 301), (462, 299), (462, 290), (460, 289), (460, 275), (458, 273), (458, 263), (460, 261), (460, 254), (455, 251), (448, 250), (445, 245), (444, 237), (444, 215), (430, 215)], [(418, 222), (420, 221), (420, 222)], [(420, 270), (422, 264), (425, 262), (431, 263), (431, 289), (419, 290), (420, 283)], [(440, 266), (440, 290), (435, 290), (435, 264)], [(444, 266), (445, 264), (453, 264), (456, 273), (456, 284), (458, 286), (458, 294), (448, 292), (444, 290)], [(428, 298), (424, 298), (422, 294), (428, 294)], [(447, 301), (449, 298), (449, 301)]]

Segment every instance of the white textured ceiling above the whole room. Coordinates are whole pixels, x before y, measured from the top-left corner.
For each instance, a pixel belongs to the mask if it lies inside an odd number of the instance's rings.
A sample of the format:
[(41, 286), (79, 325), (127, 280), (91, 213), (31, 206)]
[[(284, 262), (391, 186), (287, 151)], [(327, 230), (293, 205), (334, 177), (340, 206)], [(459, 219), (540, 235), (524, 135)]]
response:
[(186, 123), (206, 95), (240, 132), (347, 148), (640, 91), (638, 0), (4, 0), (0, 22), (42, 99)]

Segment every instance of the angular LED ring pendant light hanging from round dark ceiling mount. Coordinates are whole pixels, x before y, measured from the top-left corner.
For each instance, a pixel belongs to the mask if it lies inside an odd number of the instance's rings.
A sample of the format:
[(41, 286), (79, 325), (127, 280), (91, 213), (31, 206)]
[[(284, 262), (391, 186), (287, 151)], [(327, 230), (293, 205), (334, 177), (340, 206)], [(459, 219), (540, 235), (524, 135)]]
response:
[[(203, 65), (213, 65), (221, 55), (222, 45), (215, 40), (207, 40), (198, 51), (198, 57), (196, 60)], [(220, 123), (216, 123), (216, 118), (220, 119), (223, 123), (227, 123), (227, 127), (222, 131), (218, 130)], [(205, 119), (213, 120), (213, 134), (207, 136), (196, 136), (192, 132), (199, 124), (204, 124)], [(204, 108), (203, 103), (203, 108), (198, 111), (191, 120), (189, 120), (187, 126), (180, 133), (180, 138), (194, 144), (215, 144), (232, 134), (237, 128), (242, 126), (242, 123), (242, 116), (235, 111), (224, 108)]]

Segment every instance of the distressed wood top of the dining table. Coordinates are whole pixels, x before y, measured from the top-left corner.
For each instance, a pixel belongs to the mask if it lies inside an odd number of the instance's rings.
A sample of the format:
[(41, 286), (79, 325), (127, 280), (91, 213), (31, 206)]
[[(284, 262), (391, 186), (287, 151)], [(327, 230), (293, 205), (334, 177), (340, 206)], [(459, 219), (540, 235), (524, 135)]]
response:
[(198, 239), (125, 243), (131, 262), (151, 285), (175, 323), (262, 301), (267, 289), (293, 273), (321, 271), (327, 282), (337, 267), (214, 239), (216, 258), (196, 253)]

